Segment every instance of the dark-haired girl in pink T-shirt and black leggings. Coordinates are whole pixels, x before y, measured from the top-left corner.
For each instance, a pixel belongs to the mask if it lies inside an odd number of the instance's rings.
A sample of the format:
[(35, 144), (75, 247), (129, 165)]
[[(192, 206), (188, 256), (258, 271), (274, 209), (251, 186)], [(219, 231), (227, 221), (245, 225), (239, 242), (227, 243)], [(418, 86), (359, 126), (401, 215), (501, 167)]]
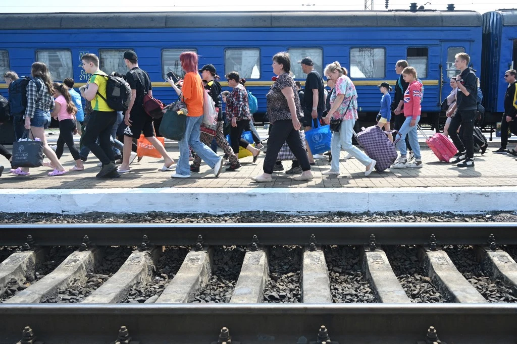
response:
[[(54, 119), (57, 118), (59, 120), (59, 137), (57, 138), (56, 144), (56, 156), (58, 159), (62, 157), (66, 143), (70, 153), (72, 154), (73, 160), (75, 160), (75, 166), (70, 170), (82, 171), (84, 169), (84, 165), (81, 160), (81, 156), (79, 155), (79, 151), (75, 148), (75, 144), (73, 143), (73, 134), (77, 133), (77, 119), (75, 118), (77, 107), (75, 107), (66, 86), (59, 83), (54, 83), (53, 86), (55, 106), (51, 115)], [(53, 167), (50, 163), (43, 163), (43, 165)]]

